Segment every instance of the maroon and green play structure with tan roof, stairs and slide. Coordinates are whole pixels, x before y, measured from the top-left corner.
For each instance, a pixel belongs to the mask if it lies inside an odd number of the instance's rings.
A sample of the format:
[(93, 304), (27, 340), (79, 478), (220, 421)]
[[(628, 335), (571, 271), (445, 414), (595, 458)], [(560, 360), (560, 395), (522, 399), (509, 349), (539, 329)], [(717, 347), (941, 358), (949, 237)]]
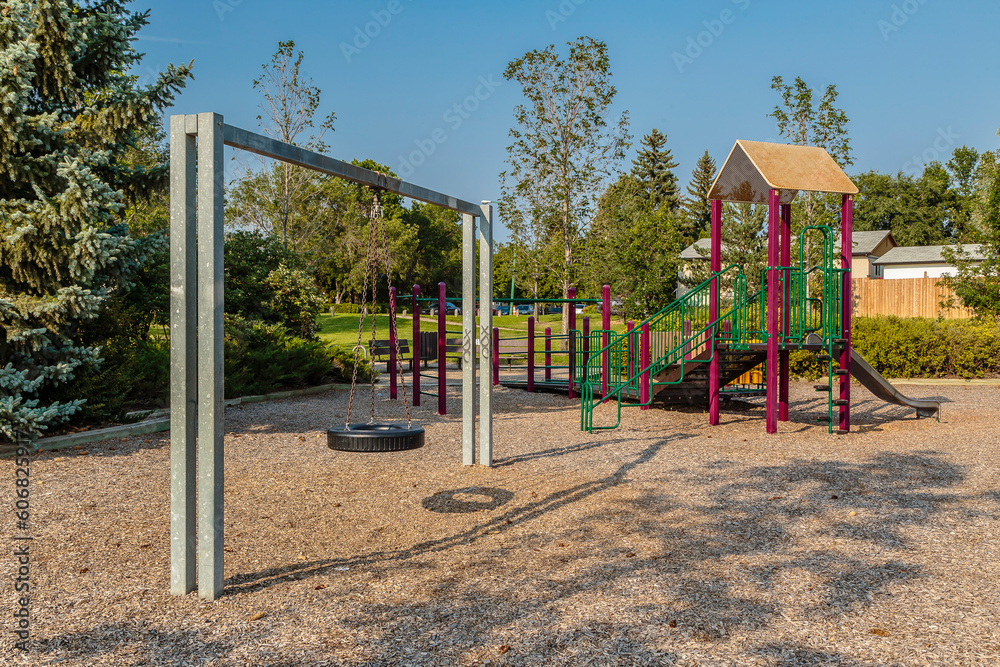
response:
[[(805, 226), (793, 262), (791, 205), (800, 191), (841, 195), (840, 242), (828, 226)], [(615, 428), (626, 401), (647, 409), (657, 397), (704, 401), (716, 425), (726, 385), (763, 364), (766, 430), (776, 433), (778, 422), (788, 421), (791, 350), (815, 351), (825, 363), (826, 382), (816, 390), (827, 396), (831, 433), (850, 431), (852, 375), (879, 398), (914, 407), (918, 417), (940, 416), (937, 402), (902, 396), (851, 348), (857, 192), (822, 148), (737, 141), (709, 193), (710, 278), (625, 334), (574, 332), (577, 348), (594, 350), (583, 360), (581, 428)], [(739, 266), (721, 266), (723, 202), (768, 206), (768, 261), (753, 293)], [(806, 253), (808, 242), (819, 244), (818, 261)], [(595, 426), (594, 409), (610, 400), (618, 421)]]

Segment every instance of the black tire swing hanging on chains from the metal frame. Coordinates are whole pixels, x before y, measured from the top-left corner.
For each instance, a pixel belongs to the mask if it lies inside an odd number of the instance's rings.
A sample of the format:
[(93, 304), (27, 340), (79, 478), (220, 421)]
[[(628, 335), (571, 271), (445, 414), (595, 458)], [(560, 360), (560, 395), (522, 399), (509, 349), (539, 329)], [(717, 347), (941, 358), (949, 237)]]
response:
[[(385, 176), (379, 174), (381, 181)], [(403, 390), (403, 407), (406, 410), (406, 423), (378, 423), (375, 421), (375, 373), (371, 374), (370, 388), (370, 411), (368, 423), (351, 423), (351, 412), (354, 408), (354, 390), (358, 383), (358, 364), (361, 362), (361, 353), (364, 345), (361, 344), (361, 336), (365, 326), (365, 317), (368, 314), (368, 283), (371, 278), (371, 305), (372, 305), (372, 340), (377, 340), (375, 336), (375, 287), (378, 281), (379, 262), (385, 265), (386, 282), (392, 287), (392, 279), (389, 274), (389, 245), (386, 241), (385, 220), (382, 212), (382, 203), (379, 200), (380, 189), (373, 191), (371, 210), (368, 214), (368, 254), (365, 258), (365, 278), (364, 286), (361, 290), (361, 317), (358, 320), (358, 343), (354, 346), (354, 373), (351, 375), (351, 395), (347, 402), (347, 419), (343, 426), (335, 426), (326, 432), (326, 444), (330, 449), (341, 452), (403, 452), (411, 449), (418, 449), (424, 446), (424, 429), (422, 426), (414, 426), (410, 420), (410, 406), (406, 403), (406, 380), (403, 375), (403, 362), (399, 353), (399, 336), (396, 341), (396, 364), (397, 372), (401, 380)], [(414, 317), (419, 317), (414, 313)], [(391, 331), (398, 331), (396, 328), (396, 302), (389, 300), (389, 326)], [(374, 370), (374, 369), (373, 369)]]

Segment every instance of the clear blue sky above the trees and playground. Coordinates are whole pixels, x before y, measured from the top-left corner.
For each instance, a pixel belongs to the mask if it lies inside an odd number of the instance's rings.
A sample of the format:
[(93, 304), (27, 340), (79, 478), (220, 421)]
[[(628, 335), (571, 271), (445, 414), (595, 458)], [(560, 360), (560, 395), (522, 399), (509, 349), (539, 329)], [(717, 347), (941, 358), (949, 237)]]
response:
[[(708, 150), (780, 141), (771, 77), (836, 84), (851, 173), (915, 173), (956, 146), (1000, 148), (1000, 3), (990, 0), (145, 0), (137, 73), (194, 60), (171, 113), (215, 111), (256, 129), (251, 80), (293, 39), (337, 114), (337, 158), (373, 158), (470, 201), (497, 199), (521, 93), (506, 64), (588, 35), (608, 44), (616, 116), (653, 127), (687, 182)], [(458, 105), (458, 110), (456, 110)], [(634, 148), (629, 160), (634, 155)], [(626, 161), (623, 167), (628, 166)], [(500, 231), (500, 238), (506, 233)]]

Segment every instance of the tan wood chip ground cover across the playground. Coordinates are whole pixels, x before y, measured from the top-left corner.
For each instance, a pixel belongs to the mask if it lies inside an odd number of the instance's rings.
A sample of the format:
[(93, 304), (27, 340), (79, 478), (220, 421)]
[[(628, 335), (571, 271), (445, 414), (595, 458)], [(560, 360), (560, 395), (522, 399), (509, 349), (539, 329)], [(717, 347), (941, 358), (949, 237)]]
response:
[[(427, 446), (326, 447), (345, 392), (226, 412), (225, 595), (169, 595), (169, 434), (33, 459), (32, 652), (11, 665), (995, 665), (1000, 391), (859, 387), (847, 437), (810, 384), (625, 412), (498, 389), (491, 469), (458, 389)], [(380, 418), (402, 408), (380, 395)], [(596, 423), (609, 423), (601, 407)], [(84, 455), (83, 451), (87, 454)], [(5, 468), (13, 497), (12, 460)], [(4, 492), (0, 492), (4, 493)], [(13, 534), (13, 516), (4, 518)], [(0, 571), (14, 572), (11, 558)], [(7, 602), (14, 592), (7, 588)], [(9, 616), (8, 616), (9, 618)]]

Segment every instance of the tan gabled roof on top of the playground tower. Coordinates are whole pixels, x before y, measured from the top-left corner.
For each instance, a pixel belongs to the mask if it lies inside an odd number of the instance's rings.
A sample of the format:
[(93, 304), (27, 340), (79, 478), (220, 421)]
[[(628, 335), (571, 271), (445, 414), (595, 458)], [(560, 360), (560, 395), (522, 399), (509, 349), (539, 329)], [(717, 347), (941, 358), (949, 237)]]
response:
[(768, 191), (781, 191), (781, 203), (799, 190), (857, 194), (830, 154), (817, 146), (793, 146), (740, 139), (712, 183), (709, 199), (766, 204)]

